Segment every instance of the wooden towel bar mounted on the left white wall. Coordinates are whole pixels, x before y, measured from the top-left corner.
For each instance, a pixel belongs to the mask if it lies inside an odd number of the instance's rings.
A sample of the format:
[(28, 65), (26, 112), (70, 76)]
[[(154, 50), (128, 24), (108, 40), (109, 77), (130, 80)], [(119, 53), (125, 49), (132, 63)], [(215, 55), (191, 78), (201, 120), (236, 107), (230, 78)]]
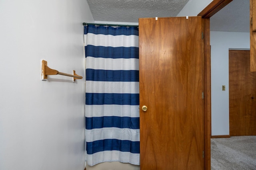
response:
[(48, 75), (57, 75), (57, 74), (63, 75), (63, 76), (73, 77), (73, 82), (76, 79), (82, 79), (83, 78), (82, 76), (77, 75), (75, 70), (73, 70), (74, 75), (72, 75), (72, 74), (67, 74), (67, 73), (59, 72), (58, 70), (51, 69), (47, 66), (47, 61), (42, 60), (42, 80), (47, 80)]

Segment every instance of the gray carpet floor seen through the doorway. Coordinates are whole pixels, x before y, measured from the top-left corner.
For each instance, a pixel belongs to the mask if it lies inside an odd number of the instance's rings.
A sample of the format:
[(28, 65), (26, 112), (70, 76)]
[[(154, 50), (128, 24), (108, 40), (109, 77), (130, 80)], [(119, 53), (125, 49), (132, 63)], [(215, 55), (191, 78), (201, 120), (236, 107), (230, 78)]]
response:
[(211, 170), (256, 170), (256, 136), (212, 138)]

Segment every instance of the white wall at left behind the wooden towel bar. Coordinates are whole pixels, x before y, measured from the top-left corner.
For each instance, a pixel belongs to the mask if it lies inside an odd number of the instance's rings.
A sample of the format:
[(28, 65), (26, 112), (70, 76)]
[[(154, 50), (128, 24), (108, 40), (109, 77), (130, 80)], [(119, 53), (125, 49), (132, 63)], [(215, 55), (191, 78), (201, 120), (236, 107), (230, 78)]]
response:
[(0, 169), (84, 169), (86, 0), (0, 0)]

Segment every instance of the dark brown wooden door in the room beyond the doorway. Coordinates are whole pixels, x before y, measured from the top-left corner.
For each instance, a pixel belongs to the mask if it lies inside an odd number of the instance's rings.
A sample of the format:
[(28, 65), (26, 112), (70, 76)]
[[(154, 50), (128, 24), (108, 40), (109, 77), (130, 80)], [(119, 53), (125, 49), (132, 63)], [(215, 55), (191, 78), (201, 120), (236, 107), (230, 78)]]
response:
[(256, 72), (250, 72), (250, 51), (229, 50), (230, 136), (256, 135)]

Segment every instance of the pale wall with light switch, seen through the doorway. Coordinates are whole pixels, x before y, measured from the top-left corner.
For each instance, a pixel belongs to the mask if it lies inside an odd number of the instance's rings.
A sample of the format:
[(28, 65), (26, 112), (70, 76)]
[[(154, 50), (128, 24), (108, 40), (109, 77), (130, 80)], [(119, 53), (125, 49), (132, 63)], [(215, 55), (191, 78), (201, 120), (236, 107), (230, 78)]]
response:
[(210, 45), (212, 135), (229, 135), (228, 49), (250, 49), (250, 33), (210, 31)]

